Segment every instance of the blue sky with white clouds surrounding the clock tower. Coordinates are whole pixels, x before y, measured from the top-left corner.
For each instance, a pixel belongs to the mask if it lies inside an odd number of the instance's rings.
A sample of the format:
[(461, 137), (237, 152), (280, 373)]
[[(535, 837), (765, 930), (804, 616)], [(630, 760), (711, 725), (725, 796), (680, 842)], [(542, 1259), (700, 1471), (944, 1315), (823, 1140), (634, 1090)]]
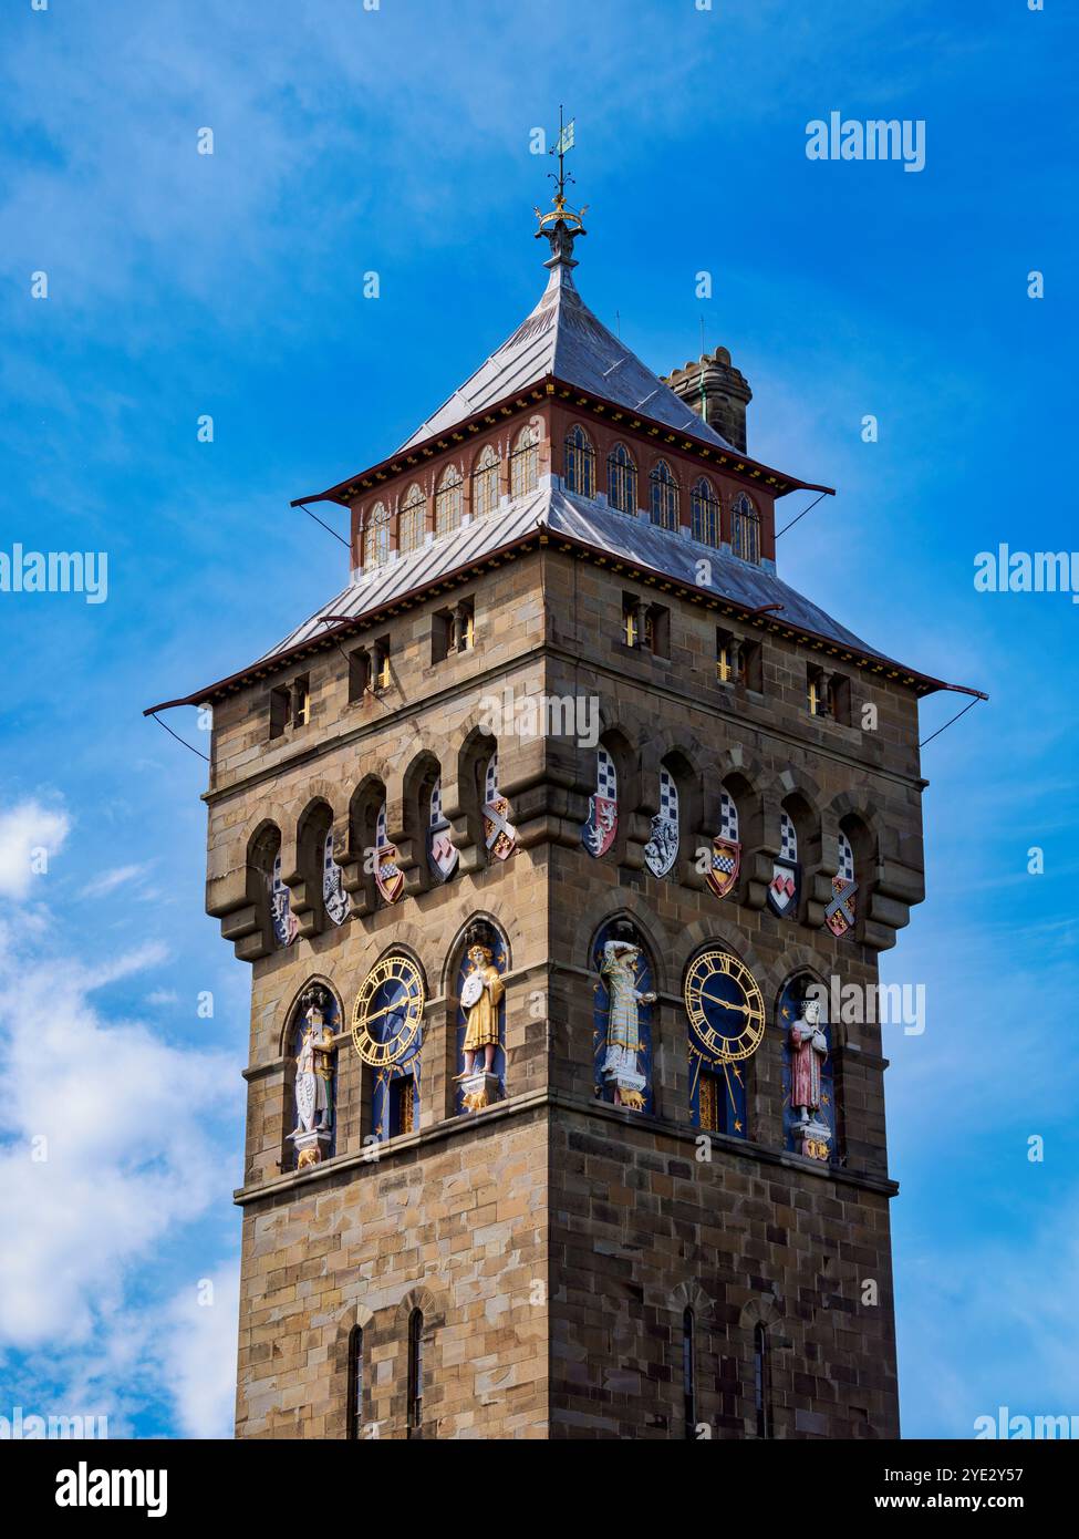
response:
[[(1079, 614), (973, 586), (1000, 540), (1073, 543), (1065, 11), (5, 6), (0, 549), (106, 551), (109, 588), (0, 593), (0, 1414), (228, 1434), (249, 974), (202, 913), (205, 766), (140, 711), (342, 585), (288, 502), (380, 459), (533, 306), (529, 131), (560, 100), (591, 308), (663, 372), (703, 317), (753, 385), (751, 452), (839, 488), (782, 576), (991, 696), (925, 749), (928, 899), (884, 959), (928, 1002), (887, 1037), (904, 1431), (1079, 1411)], [(925, 169), (810, 162), (831, 111), (924, 120)]]

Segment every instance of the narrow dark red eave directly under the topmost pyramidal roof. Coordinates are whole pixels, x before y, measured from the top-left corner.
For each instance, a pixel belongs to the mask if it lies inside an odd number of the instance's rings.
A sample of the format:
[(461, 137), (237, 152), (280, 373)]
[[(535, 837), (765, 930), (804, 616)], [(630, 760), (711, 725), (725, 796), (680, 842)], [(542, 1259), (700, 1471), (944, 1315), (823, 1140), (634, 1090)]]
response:
[(722, 440), (710, 442), (708, 439), (699, 437), (686, 429), (673, 428), (670, 423), (648, 417), (645, 412), (633, 411), (631, 408), (603, 396), (597, 396), (593, 391), (580, 389), (580, 386), (571, 385), (566, 380), (559, 379), (556, 374), (546, 374), (534, 385), (514, 391), (511, 396), (505, 396), (502, 400), (494, 402), (491, 406), (485, 406), (471, 417), (463, 417), (445, 432), (436, 432), (429, 439), (423, 439), (419, 443), (409, 443), (389, 459), (380, 460), (377, 465), (372, 465), (366, 471), (359, 471), (356, 476), (349, 476), (348, 480), (339, 482), (336, 486), (328, 486), (326, 491), (311, 492), (306, 497), (296, 497), (291, 506), (302, 508), (308, 502), (336, 502), (342, 508), (349, 508), (360, 497), (371, 491), (377, 491), (379, 486), (393, 480), (396, 476), (405, 476), (409, 469), (420, 468), (437, 454), (443, 454), (446, 449), (453, 449), (460, 443), (468, 443), (471, 439), (477, 439), (482, 432), (488, 432), (491, 428), (497, 426), (499, 422), (505, 422), (522, 411), (529, 411), (545, 400), (560, 400), (573, 405), (576, 411), (596, 417), (600, 422), (614, 423), (619, 428), (628, 428), (634, 432), (643, 432), (650, 439), (654, 439), (656, 443), (662, 443), (668, 449), (680, 449), (683, 454), (690, 454), (700, 460), (702, 469), (708, 466), (713, 469), (722, 469), (725, 474), (736, 476), (739, 480), (743, 480), (747, 486), (762, 486), (774, 497), (785, 497), (791, 491), (819, 491), (827, 492), (830, 497), (834, 497), (836, 494), (833, 486), (820, 486), (816, 482), (807, 482), (800, 480), (797, 476), (788, 476), (783, 471), (774, 469), (771, 465), (751, 459), (748, 454), (739, 454), (737, 449), (730, 448), (730, 445)]

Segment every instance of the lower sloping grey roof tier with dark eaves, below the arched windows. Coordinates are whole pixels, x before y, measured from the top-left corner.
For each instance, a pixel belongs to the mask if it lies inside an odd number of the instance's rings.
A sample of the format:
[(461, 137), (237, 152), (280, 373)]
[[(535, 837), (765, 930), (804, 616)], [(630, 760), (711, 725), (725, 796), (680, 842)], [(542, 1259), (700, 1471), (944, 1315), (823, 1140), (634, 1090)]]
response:
[[(279, 676), (283, 668), (337, 645), (343, 637), (382, 625), (434, 594), (539, 548), (563, 551), (631, 582), (659, 586), (716, 614), (807, 646), (839, 665), (904, 685), (919, 697), (953, 689), (985, 699), (980, 689), (947, 683), (877, 653), (763, 566), (751, 566), (730, 553), (656, 529), (645, 519), (588, 503), (560, 488), (543, 488), (489, 519), (376, 568), (329, 599), (254, 663), (194, 694), (149, 706), (145, 714), (179, 705), (214, 703), (262, 679)], [(707, 588), (696, 582), (702, 560), (708, 560), (714, 573), (713, 585)]]

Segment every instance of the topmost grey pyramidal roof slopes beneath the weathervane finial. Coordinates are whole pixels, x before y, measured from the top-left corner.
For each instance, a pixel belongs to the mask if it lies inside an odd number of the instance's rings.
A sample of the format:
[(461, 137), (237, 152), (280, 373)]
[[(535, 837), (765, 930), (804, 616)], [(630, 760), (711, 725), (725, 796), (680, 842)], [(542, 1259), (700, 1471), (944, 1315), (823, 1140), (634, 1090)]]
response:
[(434, 416), (419, 425), (399, 452), (446, 432), (550, 374), (653, 422), (737, 452), (593, 315), (573, 282), (574, 262), (556, 255), (548, 266), (551, 279), (536, 309)]

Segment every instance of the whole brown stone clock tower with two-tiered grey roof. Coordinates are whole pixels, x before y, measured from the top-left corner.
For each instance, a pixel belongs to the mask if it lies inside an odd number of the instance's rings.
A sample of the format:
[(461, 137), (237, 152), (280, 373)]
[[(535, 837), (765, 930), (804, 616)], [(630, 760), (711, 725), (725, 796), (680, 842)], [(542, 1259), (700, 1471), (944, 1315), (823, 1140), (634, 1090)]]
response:
[(237, 1434), (894, 1437), (885, 1060), (834, 1000), (922, 897), (944, 685), (777, 576), (823, 488), (717, 431), (730, 356), (662, 383), (562, 195), (539, 234), (509, 340), (319, 494), (343, 591), (169, 702), (252, 974)]

